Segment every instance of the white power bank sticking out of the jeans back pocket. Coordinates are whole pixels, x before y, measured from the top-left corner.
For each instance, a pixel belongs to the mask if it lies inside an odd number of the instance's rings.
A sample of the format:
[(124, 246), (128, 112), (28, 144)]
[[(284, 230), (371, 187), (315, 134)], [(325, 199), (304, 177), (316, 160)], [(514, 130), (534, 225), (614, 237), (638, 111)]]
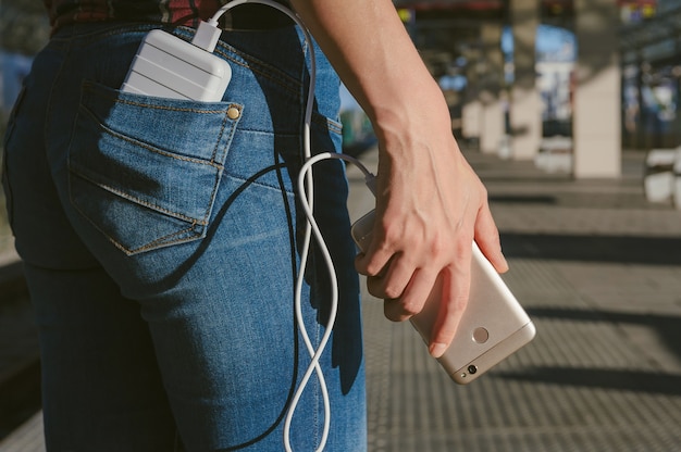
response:
[(121, 90), (170, 99), (219, 102), (232, 78), (221, 58), (153, 29), (143, 40)]

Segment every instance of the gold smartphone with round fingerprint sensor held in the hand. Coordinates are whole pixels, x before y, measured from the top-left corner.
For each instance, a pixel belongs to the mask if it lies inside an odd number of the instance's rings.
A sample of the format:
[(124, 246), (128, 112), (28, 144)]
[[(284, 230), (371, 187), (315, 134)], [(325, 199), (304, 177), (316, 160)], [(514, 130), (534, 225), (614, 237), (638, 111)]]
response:
[[(374, 211), (371, 211), (352, 225), (352, 239), (362, 251), (369, 248), (373, 224)], [(437, 318), (439, 285), (438, 278), (423, 310), (411, 317), (411, 324), (426, 343)], [(525, 311), (473, 243), (468, 306), (451, 344), (437, 359), (439, 364), (451, 379), (465, 385), (525, 346), (535, 334)]]

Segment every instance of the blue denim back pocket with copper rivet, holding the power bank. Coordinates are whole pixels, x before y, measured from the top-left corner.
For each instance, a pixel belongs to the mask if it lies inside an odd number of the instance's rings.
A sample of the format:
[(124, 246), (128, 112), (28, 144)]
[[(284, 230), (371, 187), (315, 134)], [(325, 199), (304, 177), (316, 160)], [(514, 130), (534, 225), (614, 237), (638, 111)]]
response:
[(72, 204), (128, 255), (202, 238), (240, 112), (85, 81), (69, 150)]

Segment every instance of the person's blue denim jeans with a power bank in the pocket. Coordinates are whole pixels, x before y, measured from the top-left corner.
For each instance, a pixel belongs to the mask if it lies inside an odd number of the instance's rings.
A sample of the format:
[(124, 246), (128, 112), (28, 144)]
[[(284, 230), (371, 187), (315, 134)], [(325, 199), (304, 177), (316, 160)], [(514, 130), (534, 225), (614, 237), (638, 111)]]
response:
[[(8, 127), (3, 180), (40, 334), (48, 450), (281, 451), (283, 418), (310, 361), (293, 303), (304, 40), (295, 27), (224, 33), (215, 52), (233, 77), (223, 102), (122, 93), (150, 28), (58, 33)], [(312, 148), (334, 151), (338, 79), (321, 54), (317, 86)], [(321, 362), (332, 410), (326, 450), (362, 451), (344, 165), (322, 163), (314, 177), (315, 216), (340, 286)], [(314, 340), (329, 281), (314, 251), (311, 262), (302, 300)], [(321, 403), (313, 378), (294, 417), (295, 450), (318, 444)]]

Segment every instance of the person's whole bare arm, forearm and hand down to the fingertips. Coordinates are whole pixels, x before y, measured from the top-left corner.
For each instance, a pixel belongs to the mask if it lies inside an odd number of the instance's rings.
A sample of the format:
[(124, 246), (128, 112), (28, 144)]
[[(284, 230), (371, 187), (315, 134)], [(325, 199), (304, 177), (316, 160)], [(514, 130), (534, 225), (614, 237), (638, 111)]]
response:
[(474, 239), (508, 269), (487, 193), (451, 134), (444, 96), (389, 0), (293, 0), (379, 138), (376, 224), (356, 260), (385, 315), (419, 313), (438, 275), (441, 312), (430, 352), (454, 338), (470, 288)]

